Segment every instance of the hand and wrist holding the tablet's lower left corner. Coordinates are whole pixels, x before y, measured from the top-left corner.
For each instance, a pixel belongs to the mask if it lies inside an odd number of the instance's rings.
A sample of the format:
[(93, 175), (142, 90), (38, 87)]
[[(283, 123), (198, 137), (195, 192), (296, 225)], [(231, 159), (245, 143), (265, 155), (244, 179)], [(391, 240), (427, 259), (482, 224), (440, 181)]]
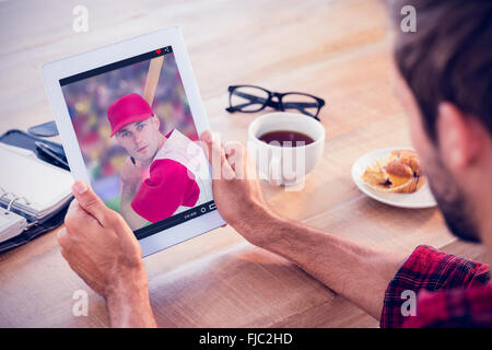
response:
[(77, 182), (72, 189), (75, 199), (58, 234), (61, 255), (106, 299), (113, 326), (155, 326), (142, 253), (132, 231), (85, 184)]

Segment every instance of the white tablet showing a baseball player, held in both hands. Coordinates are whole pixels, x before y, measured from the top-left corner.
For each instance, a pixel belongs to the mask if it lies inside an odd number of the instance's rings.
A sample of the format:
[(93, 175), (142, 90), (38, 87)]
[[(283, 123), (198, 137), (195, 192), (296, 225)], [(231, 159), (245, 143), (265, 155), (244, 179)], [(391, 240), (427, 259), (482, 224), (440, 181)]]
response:
[(124, 217), (143, 256), (224, 224), (179, 28), (50, 62), (43, 79), (74, 178)]

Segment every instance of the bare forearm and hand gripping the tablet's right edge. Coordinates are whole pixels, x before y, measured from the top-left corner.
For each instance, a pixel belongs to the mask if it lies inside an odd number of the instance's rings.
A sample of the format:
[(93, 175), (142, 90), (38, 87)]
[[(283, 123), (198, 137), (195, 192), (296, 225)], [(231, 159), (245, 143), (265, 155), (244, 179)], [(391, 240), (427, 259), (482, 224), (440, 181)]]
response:
[(213, 198), (224, 220), (250, 243), (290, 259), (378, 319), (385, 290), (405, 256), (274, 214), (261, 195), (247, 151), (241, 145), (233, 152), (224, 150), (210, 131), (201, 139), (212, 164)]

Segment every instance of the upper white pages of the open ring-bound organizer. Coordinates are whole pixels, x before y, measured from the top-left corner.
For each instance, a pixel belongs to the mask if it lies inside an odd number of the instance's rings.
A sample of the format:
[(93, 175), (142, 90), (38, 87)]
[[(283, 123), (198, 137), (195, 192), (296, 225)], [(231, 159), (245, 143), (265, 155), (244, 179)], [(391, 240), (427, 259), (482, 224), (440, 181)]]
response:
[(46, 221), (71, 199), (72, 175), (33, 151), (0, 143), (0, 207), (25, 218), (25, 229)]

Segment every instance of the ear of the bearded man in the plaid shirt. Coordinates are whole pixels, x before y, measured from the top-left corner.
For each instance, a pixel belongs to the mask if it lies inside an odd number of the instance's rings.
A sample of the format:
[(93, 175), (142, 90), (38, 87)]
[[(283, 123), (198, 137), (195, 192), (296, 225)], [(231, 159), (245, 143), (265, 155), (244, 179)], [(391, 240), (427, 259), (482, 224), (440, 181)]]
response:
[(441, 153), (449, 168), (471, 165), (485, 147), (484, 127), (477, 118), (462, 113), (448, 102), (438, 106), (436, 137)]

